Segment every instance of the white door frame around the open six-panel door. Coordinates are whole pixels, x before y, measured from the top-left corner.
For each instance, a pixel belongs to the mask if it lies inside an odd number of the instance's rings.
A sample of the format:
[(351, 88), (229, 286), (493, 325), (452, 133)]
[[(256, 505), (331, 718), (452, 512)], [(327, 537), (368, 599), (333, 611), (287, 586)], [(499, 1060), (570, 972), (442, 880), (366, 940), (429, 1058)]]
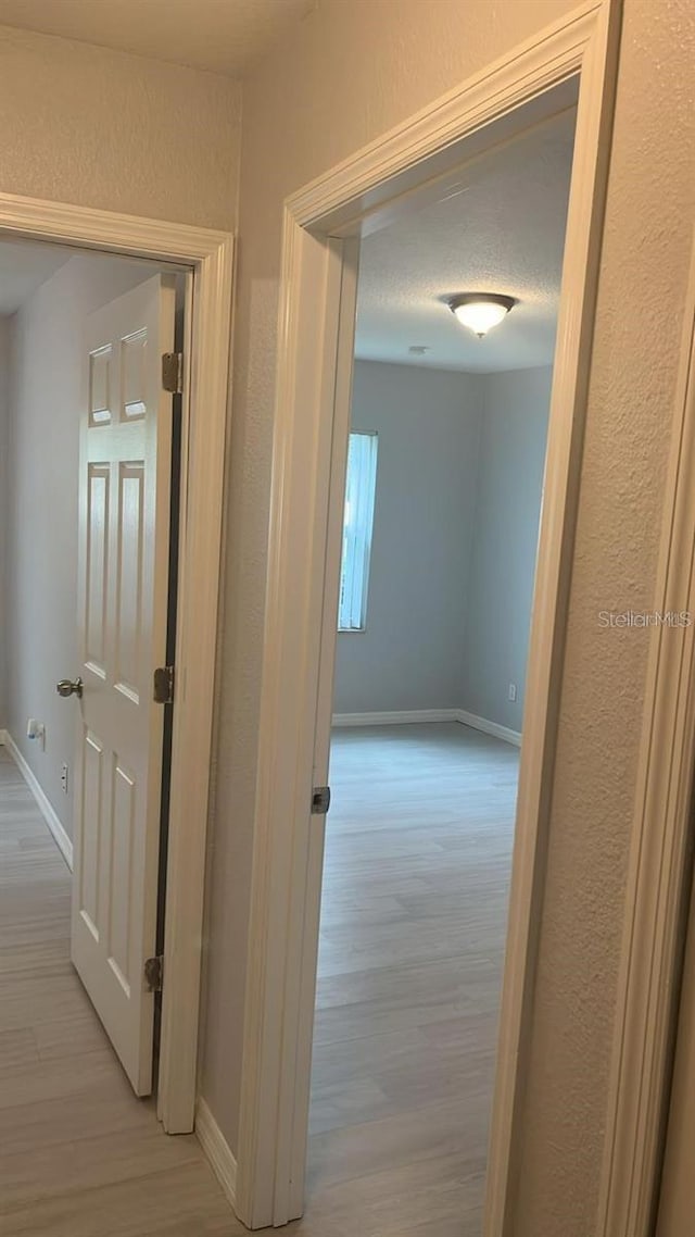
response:
[(205, 831), (220, 576), (234, 240), (228, 233), (0, 194), (0, 235), (189, 266), (194, 275), (182, 432), (158, 1117), (194, 1127)]

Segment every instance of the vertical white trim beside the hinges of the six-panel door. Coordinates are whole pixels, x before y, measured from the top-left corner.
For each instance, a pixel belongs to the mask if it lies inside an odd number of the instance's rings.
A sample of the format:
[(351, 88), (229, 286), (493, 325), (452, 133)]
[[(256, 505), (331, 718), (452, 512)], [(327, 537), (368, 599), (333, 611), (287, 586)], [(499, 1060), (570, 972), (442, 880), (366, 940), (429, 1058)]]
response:
[[(204, 235), (204, 234), (202, 234)], [(157, 1115), (193, 1128), (203, 950), (205, 839), (221, 574), (234, 241), (220, 239), (195, 273), (188, 474), (182, 494), (164, 972)]]

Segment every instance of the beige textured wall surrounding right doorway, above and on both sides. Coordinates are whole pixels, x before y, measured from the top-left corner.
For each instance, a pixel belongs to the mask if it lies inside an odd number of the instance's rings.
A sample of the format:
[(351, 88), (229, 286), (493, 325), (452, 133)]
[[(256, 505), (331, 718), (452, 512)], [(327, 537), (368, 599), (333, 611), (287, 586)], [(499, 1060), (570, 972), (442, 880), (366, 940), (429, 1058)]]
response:
[[(322, 0), (245, 85), (203, 1089), (236, 1142), (283, 197), (571, 7)], [(690, 0), (627, 0), (528, 1075), (519, 1237), (596, 1205), (644, 637), (693, 215)]]

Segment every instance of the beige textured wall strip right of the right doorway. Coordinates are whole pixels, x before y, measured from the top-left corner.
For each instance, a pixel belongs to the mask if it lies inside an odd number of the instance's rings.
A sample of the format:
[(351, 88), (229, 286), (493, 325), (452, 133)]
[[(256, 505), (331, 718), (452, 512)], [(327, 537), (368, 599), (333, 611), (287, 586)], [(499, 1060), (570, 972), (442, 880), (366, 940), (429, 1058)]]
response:
[[(589, 1233), (695, 218), (695, 10), (626, 0), (526, 1111), (519, 1233)], [(552, 1154), (549, 1154), (552, 1148)], [(571, 1218), (571, 1222), (568, 1222)]]

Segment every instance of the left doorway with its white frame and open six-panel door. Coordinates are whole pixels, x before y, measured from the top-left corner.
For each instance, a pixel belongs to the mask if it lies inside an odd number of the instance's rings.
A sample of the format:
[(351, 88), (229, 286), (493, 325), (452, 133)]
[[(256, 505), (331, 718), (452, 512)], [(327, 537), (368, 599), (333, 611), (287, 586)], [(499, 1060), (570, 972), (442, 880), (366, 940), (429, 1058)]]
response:
[[(17, 1163), (27, 1148), (37, 1152), (21, 1174), (23, 1192), (15, 1190), (7, 1131), (2, 1196), (17, 1212), (40, 1196), (51, 1212), (75, 1145), (90, 1147), (90, 1169), (75, 1181), (74, 1227), (89, 1191), (129, 1147), (140, 1168), (134, 1174), (124, 1162), (122, 1181), (169, 1171), (172, 1222), (187, 1207), (190, 1222), (208, 1210), (229, 1222), (198, 1141), (177, 1150), (161, 1128), (190, 1132), (194, 1121), (195, 1034), (185, 1039), (177, 1027), (172, 1035), (171, 1023), (176, 1011), (176, 1022), (194, 1019), (197, 1032), (202, 881), (190, 888), (190, 876), (204, 866), (205, 732), (193, 753), (202, 802), (183, 835), (169, 789), (182, 779), (182, 732), (209, 725), (210, 704), (195, 688), (172, 700), (155, 670), (172, 666), (185, 680), (187, 669), (199, 669), (204, 680), (214, 657), (214, 642), (200, 656), (189, 647), (202, 565), (192, 550), (195, 542), (219, 549), (221, 468), (209, 471), (199, 443), (211, 435), (218, 453), (224, 435), (230, 238), (16, 198), (0, 199), (0, 215), (10, 1011), (0, 1033), (16, 1075), (12, 1119), (41, 1117), (36, 1141), (27, 1134), (16, 1147)], [(78, 238), (79, 247), (70, 244)], [(209, 602), (200, 609), (195, 597), (197, 642), (215, 630)], [(162, 955), (172, 959), (163, 1003)], [(188, 998), (183, 1019), (177, 992)]]

